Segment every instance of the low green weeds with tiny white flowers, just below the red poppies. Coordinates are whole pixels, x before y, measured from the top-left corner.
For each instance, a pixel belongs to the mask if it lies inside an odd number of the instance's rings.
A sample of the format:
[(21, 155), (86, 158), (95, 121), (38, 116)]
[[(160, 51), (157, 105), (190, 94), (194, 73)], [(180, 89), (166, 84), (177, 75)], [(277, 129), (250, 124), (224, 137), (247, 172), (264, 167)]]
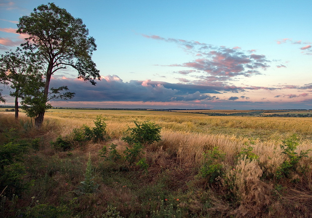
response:
[(180, 206), (173, 206), (173, 204), (165, 205), (164, 201), (160, 201), (159, 210), (152, 211), (151, 213), (152, 218), (172, 218), (172, 217), (183, 217), (181, 213)]

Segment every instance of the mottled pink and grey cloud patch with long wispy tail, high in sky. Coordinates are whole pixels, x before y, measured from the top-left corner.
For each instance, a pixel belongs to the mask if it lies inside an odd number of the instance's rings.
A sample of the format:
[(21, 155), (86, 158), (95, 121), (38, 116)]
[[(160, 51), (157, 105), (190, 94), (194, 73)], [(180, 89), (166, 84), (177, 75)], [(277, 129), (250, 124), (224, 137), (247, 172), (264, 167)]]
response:
[(261, 74), (259, 70), (270, 67), (268, 63), (271, 61), (265, 55), (249, 54), (251, 50), (244, 51), (240, 47), (228, 48), (197, 41), (141, 35), (154, 40), (177, 43), (194, 56), (193, 61), (167, 65), (168, 67), (193, 68), (201, 75), (214, 76), (216, 79), (220, 78), (220, 81), (232, 80), (232, 77), (237, 76), (251, 77)]

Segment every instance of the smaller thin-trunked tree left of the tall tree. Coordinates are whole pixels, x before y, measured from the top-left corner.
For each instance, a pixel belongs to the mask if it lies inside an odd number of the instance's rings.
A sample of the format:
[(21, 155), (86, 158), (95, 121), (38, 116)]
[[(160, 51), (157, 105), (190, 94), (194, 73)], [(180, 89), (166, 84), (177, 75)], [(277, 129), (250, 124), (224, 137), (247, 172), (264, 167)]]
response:
[(10, 96), (15, 98), (15, 118), (18, 118), (18, 98), (39, 89), (42, 82), (42, 64), (32, 53), (17, 48), (15, 52), (5, 52), (0, 58), (1, 83), (15, 90)]

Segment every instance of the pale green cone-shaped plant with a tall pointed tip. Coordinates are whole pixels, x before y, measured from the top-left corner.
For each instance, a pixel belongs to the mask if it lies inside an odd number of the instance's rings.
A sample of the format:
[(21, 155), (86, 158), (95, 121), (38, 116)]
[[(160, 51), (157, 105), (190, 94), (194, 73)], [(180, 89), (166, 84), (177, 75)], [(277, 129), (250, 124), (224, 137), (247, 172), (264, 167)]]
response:
[(89, 159), (87, 162), (87, 168), (85, 170), (85, 180), (80, 182), (80, 186), (78, 186), (79, 192), (81, 194), (93, 193), (99, 187), (99, 184), (95, 183), (94, 177), (92, 176), (92, 163), (91, 163), (91, 155), (89, 153)]

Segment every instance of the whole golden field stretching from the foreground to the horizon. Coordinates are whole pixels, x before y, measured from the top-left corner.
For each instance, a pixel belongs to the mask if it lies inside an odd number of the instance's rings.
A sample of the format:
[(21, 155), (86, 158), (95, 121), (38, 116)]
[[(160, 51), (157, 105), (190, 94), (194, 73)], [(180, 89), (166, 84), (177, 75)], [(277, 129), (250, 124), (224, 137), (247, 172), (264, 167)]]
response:
[[(75, 138), (75, 128), (92, 129), (99, 115), (105, 140)], [(161, 140), (138, 153), (123, 140), (134, 121), (161, 127)], [(312, 217), (309, 117), (51, 109), (41, 129), (24, 113), (15, 122), (14, 112), (0, 112), (0, 125), (4, 144), (32, 145), (18, 156), (22, 162), (3, 167), (22, 174), (1, 177), (15, 178), (14, 187), (1, 183), (7, 217)], [(59, 136), (70, 149), (52, 146)], [(94, 189), (82, 193), (89, 155)]]

